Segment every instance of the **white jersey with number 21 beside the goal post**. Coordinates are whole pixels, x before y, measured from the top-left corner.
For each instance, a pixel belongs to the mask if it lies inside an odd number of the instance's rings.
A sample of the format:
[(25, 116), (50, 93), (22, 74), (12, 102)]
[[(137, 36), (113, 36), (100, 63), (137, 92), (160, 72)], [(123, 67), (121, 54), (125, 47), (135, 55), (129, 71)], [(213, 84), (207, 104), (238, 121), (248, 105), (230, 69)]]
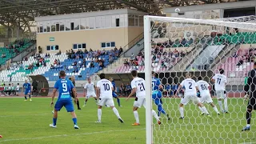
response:
[(137, 98), (146, 98), (146, 91), (145, 91), (145, 80), (143, 78), (134, 78), (130, 82), (131, 88), (136, 88), (136, 97)]

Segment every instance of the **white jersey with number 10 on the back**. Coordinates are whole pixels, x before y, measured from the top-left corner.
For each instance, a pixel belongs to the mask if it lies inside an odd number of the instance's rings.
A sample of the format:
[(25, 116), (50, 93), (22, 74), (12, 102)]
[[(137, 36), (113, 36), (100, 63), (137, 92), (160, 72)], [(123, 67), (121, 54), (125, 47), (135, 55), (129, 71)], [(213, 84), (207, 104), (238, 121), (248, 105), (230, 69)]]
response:
[(100, 89), (100, 98), (113, 98), (112, 97), (112, 83), (107, 79), (102, 79), (97, 82), (97, 88)]

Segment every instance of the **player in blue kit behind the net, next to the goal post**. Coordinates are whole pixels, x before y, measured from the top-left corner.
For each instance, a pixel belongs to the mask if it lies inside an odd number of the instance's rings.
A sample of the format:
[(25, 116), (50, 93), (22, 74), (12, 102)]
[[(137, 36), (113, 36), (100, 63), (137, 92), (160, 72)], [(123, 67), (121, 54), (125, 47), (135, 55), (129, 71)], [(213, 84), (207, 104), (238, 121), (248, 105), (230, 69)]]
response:
[(166, 111), (162, 107), (162, 91), (160, 90), (163, 90), (160, 79), (155, 78), (155, 73), (152, 71), (152, 98), (154, 104), (158, 106), (158, 116), (162, 113), (166, 115), (168, 120), (170, 120), (169, 114), (166, 114)]

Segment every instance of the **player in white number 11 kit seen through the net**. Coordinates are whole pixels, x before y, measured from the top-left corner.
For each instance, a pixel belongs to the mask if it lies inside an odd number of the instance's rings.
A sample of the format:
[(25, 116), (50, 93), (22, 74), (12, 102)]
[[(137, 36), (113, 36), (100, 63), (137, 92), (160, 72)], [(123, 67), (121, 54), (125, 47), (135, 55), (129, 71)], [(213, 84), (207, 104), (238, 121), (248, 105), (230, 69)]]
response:
[[(218, 98), (218, 105), (223, 113), (228, 114), (226, 96), (226, 76), (223, 74), (224, 70), (220, 69), (219, 74), (215, 74), (214, 77), (211, 78), (211, 80), (212, 82), (214, 82), (214, 87)], [(224, 99), (224, 110), (222, 107), (222, 99)]]

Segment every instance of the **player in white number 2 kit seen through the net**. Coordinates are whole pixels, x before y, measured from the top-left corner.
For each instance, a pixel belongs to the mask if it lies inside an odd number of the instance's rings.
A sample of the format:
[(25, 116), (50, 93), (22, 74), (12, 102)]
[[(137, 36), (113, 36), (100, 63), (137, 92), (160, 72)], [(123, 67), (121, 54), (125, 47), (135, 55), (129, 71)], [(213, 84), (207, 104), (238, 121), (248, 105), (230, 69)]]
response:
[(181, 119), (184, 118), (184, 108), (183, 106), (186, 105), (190, 100), (194, 102), (195, 105), (198, 105), (202, 108), (203, 113), (207, 114), (210, 118), (210, 114), (206, 110), (206, 107), (202, 105), (199, 98), (197, 97), (197, 89), (198, 86), (196, 86), (196, 83), (193, 79), (191, 79), (191, 74), (186, 73), (186, 79), (182, 81), (182, 83), (178, 86), (178, 90), (174, 96), (177, 97), (178, 91), (182, 89), (182, 87), (185, 87), (185, 94), (184, 97), (181, 100), (181, 103), (179, 104), (179, 111), (181, 113)]

